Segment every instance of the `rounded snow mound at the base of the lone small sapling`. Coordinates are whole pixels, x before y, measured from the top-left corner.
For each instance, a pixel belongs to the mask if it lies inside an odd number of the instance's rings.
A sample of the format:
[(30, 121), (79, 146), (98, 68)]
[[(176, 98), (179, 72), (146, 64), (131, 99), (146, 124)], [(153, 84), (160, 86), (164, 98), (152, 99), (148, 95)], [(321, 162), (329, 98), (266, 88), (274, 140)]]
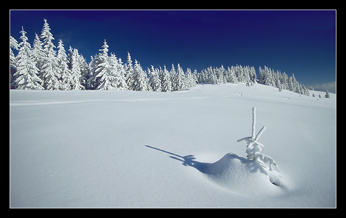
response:
[(225, 154), (214, 163), (187, 162), (212, 181), (229, 191), (246, 196), (275, 196), (287, 190), (287, 185), (277, 171), (270, 171), (255, 160), (247, 160), (234, 153)]

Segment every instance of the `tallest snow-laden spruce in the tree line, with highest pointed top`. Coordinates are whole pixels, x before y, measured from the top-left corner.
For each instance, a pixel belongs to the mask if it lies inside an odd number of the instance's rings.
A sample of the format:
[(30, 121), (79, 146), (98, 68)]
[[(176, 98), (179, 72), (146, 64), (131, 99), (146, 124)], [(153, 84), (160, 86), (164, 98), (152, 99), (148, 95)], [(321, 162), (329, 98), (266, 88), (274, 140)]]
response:
[(43, 87), (47, 90), (59, 90), (62, 88), (60, 83), (60, 69), (57, 68), (56, 52), (52, 43), (53, 35), (50, 33), (47, 20), (44, 19), (41, 39), (43, 40), (44, 64), (41, 69)]

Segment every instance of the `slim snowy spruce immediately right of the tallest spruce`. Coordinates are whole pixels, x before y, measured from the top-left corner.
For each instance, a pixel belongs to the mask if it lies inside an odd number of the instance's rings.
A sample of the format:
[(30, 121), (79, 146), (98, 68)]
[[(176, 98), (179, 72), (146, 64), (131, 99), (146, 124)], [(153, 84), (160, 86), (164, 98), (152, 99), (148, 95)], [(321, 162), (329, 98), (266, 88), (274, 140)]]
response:
[(72, 75), (71, 75), (71, 70), (69, 69), (68, 66), (68, 60), (67, 60), (67, 55), (66, 51), (64, 48), (64, 44), (62, 40), (59, 40), (59, 44), (57, 46), (59, 49), (57, 51), (56, 59), (57, 59), (57, 67), (60, 69), (61, 72), (61, 85), (62, 85), (62, 90), (71, 90), (71, 83), (72, 83)]

